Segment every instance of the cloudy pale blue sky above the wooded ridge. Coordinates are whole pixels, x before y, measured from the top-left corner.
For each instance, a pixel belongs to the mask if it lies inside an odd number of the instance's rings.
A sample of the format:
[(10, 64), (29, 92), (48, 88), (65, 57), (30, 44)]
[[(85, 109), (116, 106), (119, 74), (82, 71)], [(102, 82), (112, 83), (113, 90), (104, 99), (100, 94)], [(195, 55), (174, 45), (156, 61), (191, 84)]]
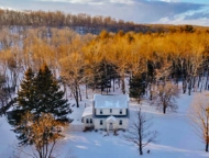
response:
[(0, 0), (0, 8), (112, 16), (142, 24), (209, 26), (209, 0)]

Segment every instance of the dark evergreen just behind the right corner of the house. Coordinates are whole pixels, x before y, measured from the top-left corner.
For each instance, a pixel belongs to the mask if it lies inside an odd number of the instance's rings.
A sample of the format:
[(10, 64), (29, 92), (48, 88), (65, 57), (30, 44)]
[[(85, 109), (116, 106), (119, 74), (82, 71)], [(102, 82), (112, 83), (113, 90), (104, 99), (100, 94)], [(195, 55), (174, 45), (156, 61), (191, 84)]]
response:
[(145, 93), (145, 75), (134, 75), (130, 79), (130, 97), (135, 98), (139, 101), (141, 97)]

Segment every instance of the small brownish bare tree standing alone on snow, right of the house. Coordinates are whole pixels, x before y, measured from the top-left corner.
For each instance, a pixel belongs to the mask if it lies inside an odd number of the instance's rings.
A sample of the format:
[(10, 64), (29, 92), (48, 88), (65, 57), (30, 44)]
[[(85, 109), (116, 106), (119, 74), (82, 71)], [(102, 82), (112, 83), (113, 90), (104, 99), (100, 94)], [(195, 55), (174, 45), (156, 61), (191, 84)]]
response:
[(165, 84), (157, 86), (157, 89), (152, 93), (152, 105), (156, 105), (157, 110), (163, 110), (163, 113), (166, 113), (166, 110), (176, 111), (178, 109), (176, 104), (176, 98), (178, 98), (179, 91), (177, 86), (172, 82), (166, 82)]

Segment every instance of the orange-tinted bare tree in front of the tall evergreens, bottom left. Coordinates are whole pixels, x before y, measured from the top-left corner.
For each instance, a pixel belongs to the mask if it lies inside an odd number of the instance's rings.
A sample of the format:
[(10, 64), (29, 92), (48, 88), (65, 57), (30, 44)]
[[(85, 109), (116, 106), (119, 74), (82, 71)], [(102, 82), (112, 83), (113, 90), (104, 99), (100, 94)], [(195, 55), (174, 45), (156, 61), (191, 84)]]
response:
[(19, 127), (22, 127), (37, 154), (25, 154), (33, 158), (51, 158), (58, 139), (64, 137), (62, 131), (65, 126), (67, 124), (56, 121), (51, 114), (42, 113), (41, 117), (35, 119), (33, 114), (26, 113)]

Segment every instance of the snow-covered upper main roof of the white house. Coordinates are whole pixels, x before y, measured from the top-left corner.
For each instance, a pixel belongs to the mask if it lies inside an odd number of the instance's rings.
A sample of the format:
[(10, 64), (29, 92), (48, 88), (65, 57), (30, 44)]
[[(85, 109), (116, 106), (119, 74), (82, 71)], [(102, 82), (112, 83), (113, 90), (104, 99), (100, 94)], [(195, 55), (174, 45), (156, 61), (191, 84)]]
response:
[(96, 109), (124, 109), (128, 108), (129, 95), (128, 94), (116, 94), (116, 95), (103, 95), (95, 94), (95, 108)]

